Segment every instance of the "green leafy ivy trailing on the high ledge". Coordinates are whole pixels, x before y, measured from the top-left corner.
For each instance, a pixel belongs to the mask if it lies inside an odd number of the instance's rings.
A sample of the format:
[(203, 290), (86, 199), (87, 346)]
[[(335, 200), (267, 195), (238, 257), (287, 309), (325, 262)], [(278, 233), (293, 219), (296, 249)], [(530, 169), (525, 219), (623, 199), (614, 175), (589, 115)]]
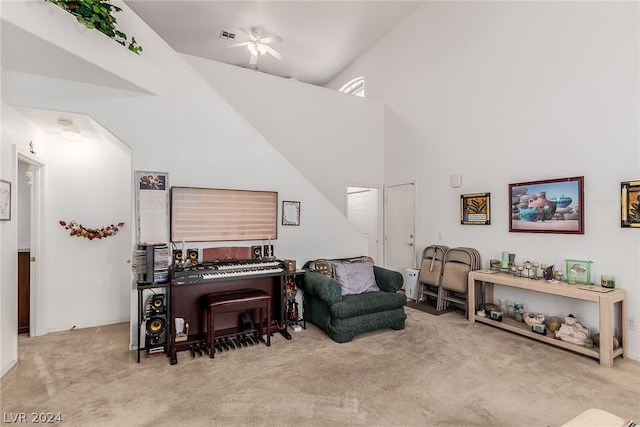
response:
[(122, 8), (109, 3), (109, 0), (45, 0), (54, 3), (73, 16), (78, 22), (90, 29), (96, 29), (111, 37), (130, 51), (140, 55), (142, 46), (139, 46), (135, 37), (127, 42), (127, 35), (116, 28), (116, 18), (112, 13), (120, 12)]

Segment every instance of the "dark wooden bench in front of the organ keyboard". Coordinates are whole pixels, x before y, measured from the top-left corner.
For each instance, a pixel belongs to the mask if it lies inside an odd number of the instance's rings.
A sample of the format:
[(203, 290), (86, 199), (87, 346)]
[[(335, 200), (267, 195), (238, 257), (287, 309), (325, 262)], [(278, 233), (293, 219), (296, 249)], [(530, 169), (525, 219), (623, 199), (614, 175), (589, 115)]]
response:
[[(271, 346), (271, 296), (258, 289), (217, 292), (205, 295), (204, 305), (207, 309), (207, 345), (209, 357), (215, 353), (215, 319), (216, 314), (240, 312), (243, 310), (260, 310), (260, 336), (263, 335), (262, 322), (267, 317), (267, 346)], [(266, 312), (266, 313), (265, 313)]]

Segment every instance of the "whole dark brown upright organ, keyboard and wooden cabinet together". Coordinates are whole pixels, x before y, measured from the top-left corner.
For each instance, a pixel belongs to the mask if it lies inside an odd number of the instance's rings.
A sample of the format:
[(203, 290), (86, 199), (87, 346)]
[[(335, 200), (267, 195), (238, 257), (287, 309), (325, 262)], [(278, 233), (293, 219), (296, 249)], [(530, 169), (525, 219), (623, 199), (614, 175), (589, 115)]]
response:
[[(291, 339), (287, 331), (284, 307), (285, 268), (279, 260), (224, 260), (203, 262), (188, 267), (171, 269), (169, 319), (169, 357), (178, 363), (177, 352), (206, 345), (206, 310), (202, 306), (205, 295), (215, 292), (259, 289), (271, 295), (271, 330)], [(183, 318), (189, 324), (183, 341), (176, 342), (175, 319)], [(254, 317), (254, 323), (262, 321)], [(238, 313), (216, 316), (216, 336), (232, 336), (242, 332)]]

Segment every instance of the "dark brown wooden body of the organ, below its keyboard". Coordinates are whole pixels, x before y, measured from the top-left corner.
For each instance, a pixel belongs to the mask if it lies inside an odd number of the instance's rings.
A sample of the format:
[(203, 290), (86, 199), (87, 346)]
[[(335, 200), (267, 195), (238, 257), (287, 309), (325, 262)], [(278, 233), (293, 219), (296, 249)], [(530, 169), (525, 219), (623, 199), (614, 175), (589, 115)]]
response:
[[(216, 292), (237, 291), (241, 289), (259, 289), (271, 296), (271, 331), (280, 332), (286, 337), (286, 323), (284, 322), (284, 308), (282, 304), (283, 274), (268, 273), (255, 276), (241, 276), (235, 278), (220, 278), (202, 283), (177, 285), (172, 274), (170, 289), (171, 316), (170, 334), (170, 363), (178, 363), (177, 352), (189, 350), (193, 345), (201, 345), (207, 341), (207, 311), (203, 306), (203, 297)], [(241, 333), (238, 325), (239, 313), (224, 313), (216, 316), (216, 336), (232, 336)], [(183, 318), (189, 323), (186, 341), (176, 342), (175, 319)], [(262, 319), (254, 318), (254, 322)]]

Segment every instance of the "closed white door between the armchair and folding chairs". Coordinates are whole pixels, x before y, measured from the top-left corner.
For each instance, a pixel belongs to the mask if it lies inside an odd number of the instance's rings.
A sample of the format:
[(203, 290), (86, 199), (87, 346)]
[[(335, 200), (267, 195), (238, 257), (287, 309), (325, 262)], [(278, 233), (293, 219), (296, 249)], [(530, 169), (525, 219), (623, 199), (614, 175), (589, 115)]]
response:
[(385, 266), (404, 273), (415, 267), (415, 185), (385, 187)]

